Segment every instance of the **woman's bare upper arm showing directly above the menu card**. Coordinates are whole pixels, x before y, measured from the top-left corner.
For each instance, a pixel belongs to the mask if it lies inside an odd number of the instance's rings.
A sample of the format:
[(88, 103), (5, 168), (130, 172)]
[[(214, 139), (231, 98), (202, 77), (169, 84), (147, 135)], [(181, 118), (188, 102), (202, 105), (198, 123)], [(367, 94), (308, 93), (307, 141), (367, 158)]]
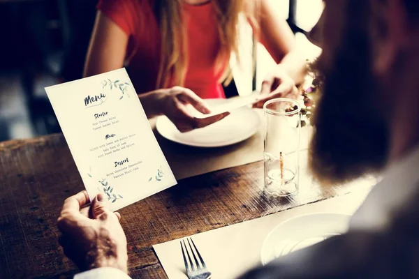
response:
[(84, 77), (122, 68), (127, 45), (128, 35), (98, 11), (84, 64)]

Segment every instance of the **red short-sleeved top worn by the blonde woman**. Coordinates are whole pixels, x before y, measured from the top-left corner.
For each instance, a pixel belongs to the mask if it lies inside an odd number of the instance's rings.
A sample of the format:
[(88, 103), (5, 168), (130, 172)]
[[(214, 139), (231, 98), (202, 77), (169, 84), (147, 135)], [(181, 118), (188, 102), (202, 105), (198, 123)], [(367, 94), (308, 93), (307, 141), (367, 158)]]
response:
[[(161, 35), (153, 0), (99, 0), (97, 8), (129, 36), (126, 67), (137, 93), (155, 90)], [(221, 43), (214, 6), (209, 1), (197, 6), (185, 3), (182, 8), (189, 55), (184, 87), (201, 98), (226, 98), (219, 82), (224, 69), (216, 70)]]

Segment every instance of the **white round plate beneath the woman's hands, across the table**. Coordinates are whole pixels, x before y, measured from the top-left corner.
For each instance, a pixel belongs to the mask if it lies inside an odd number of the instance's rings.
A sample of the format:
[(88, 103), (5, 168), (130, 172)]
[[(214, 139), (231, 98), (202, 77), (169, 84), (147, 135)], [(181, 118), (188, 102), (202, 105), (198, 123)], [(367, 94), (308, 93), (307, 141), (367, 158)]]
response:
[[(205, 100), (210, 106), (223, 105), (225, 99)], [(220, 147), (236, 144), (256, 134), (260, 127), (260, 117), (250, 107), (240, 107), (230, 112), (226, 118), (205, 128), (180, 133), (175, 124), (166, 116), (159, 116), (156, 129), (166, 139), (179, 144), (198, 147)]]

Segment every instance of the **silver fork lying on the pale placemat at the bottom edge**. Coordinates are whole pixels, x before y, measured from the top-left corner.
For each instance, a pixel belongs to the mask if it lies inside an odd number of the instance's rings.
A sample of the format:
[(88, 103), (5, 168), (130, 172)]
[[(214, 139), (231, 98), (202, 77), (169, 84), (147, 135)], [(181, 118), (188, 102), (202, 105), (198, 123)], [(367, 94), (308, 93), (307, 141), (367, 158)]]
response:
[[(184, 240), (180, 241), (180, 248), (182, 248), (182, 255), (184, 257), (184, 263), (185, 263), (185, 269), (186, 269), (186, 275), (189, 279), (209, 279), (211, 278), (212, 274), (210, 271), (208, 271), (207, 266), (205, 265), (203, 257), (201, 257), (200, 253), (198, 252), (198, 249), (195, 246), (195, 243), (193, 243), (193, 240), (191, 238), (186, 239), (189, 244), (189, 249), (186, 248), (186, 243)], [(183, 243), (183, 244), (182, 244)], [(192, 245), (191, 245), (192, 243)], [(192, 248), (195, 248), (195, 250)], [(191, 252), (189, 252), (191, 250)], [(185, 254), (188, 256), (186, 259)], [(191, 258), (191, 254), (193, 259)], [(197, 259), (197, 255), (199, 258), (199, 261)], [(189, 259), (189, 262), (188, 262)]]

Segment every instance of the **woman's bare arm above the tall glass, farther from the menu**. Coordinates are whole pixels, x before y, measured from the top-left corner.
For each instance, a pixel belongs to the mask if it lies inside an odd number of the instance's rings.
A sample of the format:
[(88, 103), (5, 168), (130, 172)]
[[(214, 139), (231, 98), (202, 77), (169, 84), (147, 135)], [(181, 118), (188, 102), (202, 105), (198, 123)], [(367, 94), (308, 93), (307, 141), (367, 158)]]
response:
[(260, 43), (291, 77), (295, 84), (304, 82), (306, 63), (297, 51), (295, 36), (286, 20), (274, 13), (269, 0), (260, 1)]

